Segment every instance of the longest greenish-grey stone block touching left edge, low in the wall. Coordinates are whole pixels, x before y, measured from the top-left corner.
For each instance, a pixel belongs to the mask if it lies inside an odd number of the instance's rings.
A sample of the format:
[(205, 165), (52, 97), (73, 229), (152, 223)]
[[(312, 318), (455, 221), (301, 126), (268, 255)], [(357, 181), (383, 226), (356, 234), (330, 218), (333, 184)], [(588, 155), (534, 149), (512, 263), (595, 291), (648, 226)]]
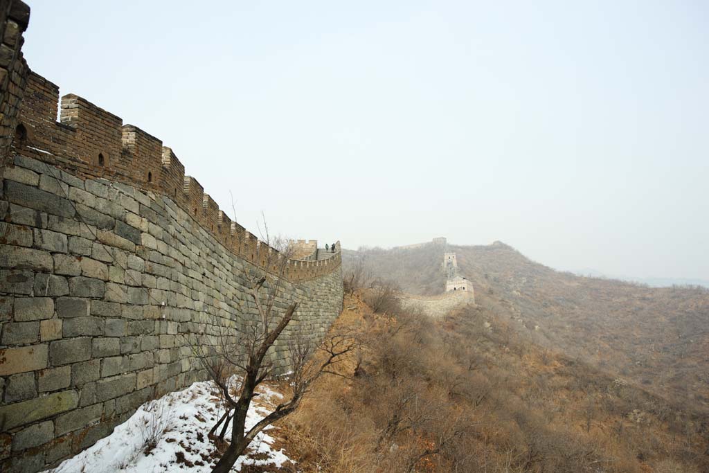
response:
[(0, 418), (4, 418), (4, 430), (10, 430), (71, 411), (78, 403), (77, 391), (60, 391), (29, 401), (0, 406)]

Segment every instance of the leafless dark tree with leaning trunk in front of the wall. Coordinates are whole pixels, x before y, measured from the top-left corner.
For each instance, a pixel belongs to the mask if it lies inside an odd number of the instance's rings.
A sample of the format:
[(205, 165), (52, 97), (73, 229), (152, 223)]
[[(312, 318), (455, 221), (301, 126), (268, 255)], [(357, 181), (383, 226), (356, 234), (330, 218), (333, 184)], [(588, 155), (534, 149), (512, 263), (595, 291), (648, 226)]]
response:
[[(265, 233), (268, 235), (267, 229)], [(267, 250), (269, 257), (263, 274), (252, 285), (250, 296), (257, 312), (255, 320), (246, 321), (240, 329), (233, 324), (221, 327), (216, 345), (199, 343), (196, 339), (189, 342), (194, 355), (218, 387), (225, 404), (225, 413), (211, 429), (211, 438), (216, 440), (214, 433), (223, 423), (219, 435), (219, 439), (223, 440), (231, 423), (230, 443), (213, 473), (229, 472), (259, 432), (295, 411), (320, 374), (339, 374), (335, 367), (344, 355), (356, 347), (354, 338), (348, 335), (333, 335), (317, 349), (310, 340), (292, 336), (289, 342), (291, 396), (252, 428), (246, 428), (251, 401), (258, 396), (256, 389), (273, 374), (274, 365), (269, 350), (294, 320), (298, 307), (294, 302), (279, 310), (275, 304), (289, 262), (289, 247), (285, 243), (281, 245), (284, 241), (274, 243), (281, 249), (280, 252)], [(238, 382), (233, 379), (238, 379)]]

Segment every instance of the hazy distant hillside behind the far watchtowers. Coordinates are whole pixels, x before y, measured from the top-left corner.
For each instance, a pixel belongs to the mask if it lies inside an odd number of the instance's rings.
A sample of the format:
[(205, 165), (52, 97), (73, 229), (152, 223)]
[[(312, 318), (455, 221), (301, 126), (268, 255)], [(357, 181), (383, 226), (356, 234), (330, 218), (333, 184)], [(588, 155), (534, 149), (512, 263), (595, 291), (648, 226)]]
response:
[[(442, 246), (345, 252), (403, 291), (442, 291)], [(448, 245), (473, 282), (477, 304), (530, 340), (613, 376), (709, 412), (709, 291), (649, 288), (578, 277), (532, 262), (503, 243)], [(425, 266), (419, 266), (424, 265)], [(430, 279), (427, 279), (430, 278)]]

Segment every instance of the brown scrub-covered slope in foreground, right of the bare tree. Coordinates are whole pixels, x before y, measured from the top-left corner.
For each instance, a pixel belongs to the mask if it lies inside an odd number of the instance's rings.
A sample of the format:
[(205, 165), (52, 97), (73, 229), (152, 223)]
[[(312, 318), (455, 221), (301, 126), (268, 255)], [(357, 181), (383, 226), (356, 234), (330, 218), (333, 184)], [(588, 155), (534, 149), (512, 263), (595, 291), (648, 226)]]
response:
[(359, 294), (345, 306), (335, 325), (357, 331), (362, 360), (320, 379), (280, 425), (300, 472), (709, 467), (701, 418), (530, 343), (486, 308), (433, 321), (373, 313)]

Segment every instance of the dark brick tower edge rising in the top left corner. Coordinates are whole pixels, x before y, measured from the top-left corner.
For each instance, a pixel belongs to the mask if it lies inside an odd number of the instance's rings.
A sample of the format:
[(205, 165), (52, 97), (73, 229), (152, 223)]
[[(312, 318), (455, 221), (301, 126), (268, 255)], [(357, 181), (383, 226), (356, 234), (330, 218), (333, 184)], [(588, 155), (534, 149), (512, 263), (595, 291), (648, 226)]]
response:
[(27, 63), (21, 48), (29, 19), (30, 7), (22, 1), (0, 1), (0, 165), (9, 157), (26, 86)]

